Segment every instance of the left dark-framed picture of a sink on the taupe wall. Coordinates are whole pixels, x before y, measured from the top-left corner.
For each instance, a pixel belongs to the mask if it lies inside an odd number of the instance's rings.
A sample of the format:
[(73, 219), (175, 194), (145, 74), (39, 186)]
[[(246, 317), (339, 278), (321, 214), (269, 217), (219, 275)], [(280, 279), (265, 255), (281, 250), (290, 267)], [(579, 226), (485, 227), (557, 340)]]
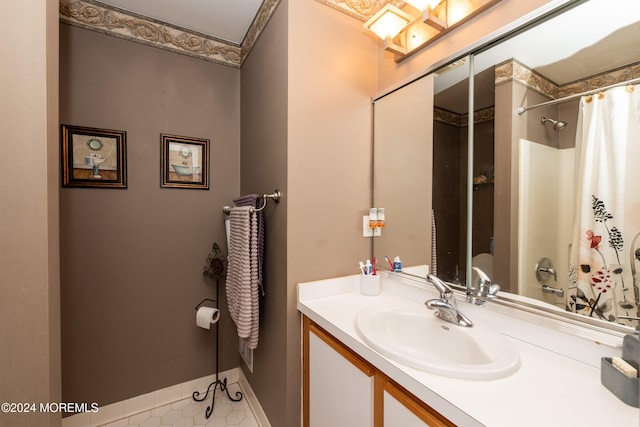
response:
[(62, 186), (127, 188), (127, 133), (62, 125)]

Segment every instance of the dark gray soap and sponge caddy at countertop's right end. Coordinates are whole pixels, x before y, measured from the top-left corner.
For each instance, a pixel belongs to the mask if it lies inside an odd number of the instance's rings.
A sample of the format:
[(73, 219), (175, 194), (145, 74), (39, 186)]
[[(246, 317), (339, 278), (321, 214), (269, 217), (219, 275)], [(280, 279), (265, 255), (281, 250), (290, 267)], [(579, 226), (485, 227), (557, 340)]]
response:
[[(640, 365), (640, 338), (627, 335), (622, 342), (622, 358), (638, 369)], [(629, 378), (611, 363), (610, 357), (603, 357), (600, 363), (600, 381), (611, 393), (627, 405), (640, 406), (640, 379)]]

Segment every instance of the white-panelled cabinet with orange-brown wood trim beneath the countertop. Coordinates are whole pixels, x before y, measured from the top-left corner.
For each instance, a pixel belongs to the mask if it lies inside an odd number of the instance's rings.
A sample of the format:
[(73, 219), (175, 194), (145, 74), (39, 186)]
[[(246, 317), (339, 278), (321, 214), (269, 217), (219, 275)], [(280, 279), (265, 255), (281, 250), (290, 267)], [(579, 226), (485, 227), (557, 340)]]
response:
[(451, 427), (449, 420), (303, 316), (305, 427)]

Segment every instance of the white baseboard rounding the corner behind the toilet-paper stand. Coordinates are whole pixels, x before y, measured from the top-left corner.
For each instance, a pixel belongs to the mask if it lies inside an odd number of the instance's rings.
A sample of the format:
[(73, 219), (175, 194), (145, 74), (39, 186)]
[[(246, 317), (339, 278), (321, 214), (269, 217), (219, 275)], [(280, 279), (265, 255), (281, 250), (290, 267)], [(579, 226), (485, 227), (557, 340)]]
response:
[[(227, 378), (227, 384), (238, 383), (244, 392), (249, 407), (256, 416), (259, 427), (271, 427), (262, 406), (256, 399), (251, 386), (240, 368), (233, 368), (220, 372), (219, 378)], [(97, 427), (113, 421), (149, 411), (160, 406), (190, 398), (195, 390), (205, 393), (209, 384), (215, 380), (215, 374), (196, 378), (181, 384), (176, 384), (140, 396), (132, 397), (120, 402), (101, 406), (98, 411), (83, 412), (62, 419), (62, 427)]]

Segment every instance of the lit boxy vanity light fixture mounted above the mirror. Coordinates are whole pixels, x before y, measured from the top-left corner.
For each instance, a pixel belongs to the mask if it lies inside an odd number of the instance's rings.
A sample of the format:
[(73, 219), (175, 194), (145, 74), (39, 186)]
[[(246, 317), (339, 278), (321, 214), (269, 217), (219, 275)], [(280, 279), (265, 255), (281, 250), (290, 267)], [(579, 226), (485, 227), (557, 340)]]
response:
[(422, 49), (501, 0), (405, 0), (387, 3), (364, 27), (384, 40), (396, 62)]

